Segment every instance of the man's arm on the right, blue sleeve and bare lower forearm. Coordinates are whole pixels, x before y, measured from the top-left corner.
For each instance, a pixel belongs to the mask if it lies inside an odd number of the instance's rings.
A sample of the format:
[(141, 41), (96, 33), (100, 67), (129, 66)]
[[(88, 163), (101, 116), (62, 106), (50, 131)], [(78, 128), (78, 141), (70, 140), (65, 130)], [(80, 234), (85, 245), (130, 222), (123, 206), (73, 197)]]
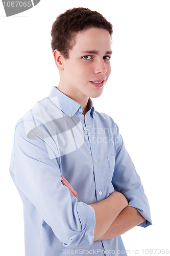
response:
[[(116, 127), (117, 143), (115, 143), (115, 162), (112, 165), (112, 184), (116, 191), (119, 191), (127, 198), (128, 207), (121, 212), (112, 227), (110, 227), (110, 230), (108, 230), (108, 233), (113, 233), (113, 237), (125, 233), (136, 225), (147, 227), (152, 224), (149, 202), (144, 193), (140, 177), (136, 173), (123, 138), (119, 134), (118, 126), (116, 125)], [(122, 223), (122, 227), (119, 229), (120, 231), (116, 231), (119, 223)]]

